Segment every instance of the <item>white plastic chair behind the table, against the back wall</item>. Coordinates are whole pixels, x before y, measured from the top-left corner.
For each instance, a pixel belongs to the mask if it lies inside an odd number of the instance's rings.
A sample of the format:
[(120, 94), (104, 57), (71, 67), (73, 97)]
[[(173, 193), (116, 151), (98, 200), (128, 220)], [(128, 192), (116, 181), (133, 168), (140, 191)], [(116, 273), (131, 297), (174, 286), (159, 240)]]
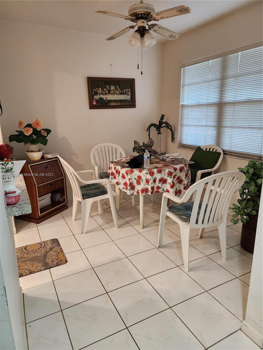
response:
[[(108, 173), (108, 168), (112, 160), (125, 157), (124, 150), (115, 144), (100, 144), (92, 148), (90, 152), (90, 160), (95, 168), (96, 179), (100, 178), (100, 174)], [(121, 197), (123, 193), (121, 192)], [(103, 204), (98, 201), (98, 210), (104, 212)]]

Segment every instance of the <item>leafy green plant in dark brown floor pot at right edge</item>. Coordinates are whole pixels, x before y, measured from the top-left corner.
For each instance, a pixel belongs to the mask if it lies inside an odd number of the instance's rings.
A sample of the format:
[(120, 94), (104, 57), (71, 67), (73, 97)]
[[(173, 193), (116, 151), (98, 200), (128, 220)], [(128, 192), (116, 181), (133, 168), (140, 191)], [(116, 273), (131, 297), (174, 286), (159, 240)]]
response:
[(231, 222), (237, 224), (242, 222), (241, 247), (250, 253), (254, 252), (257, 217), (262, 189), (263, 163), (260, 158), (250, 160), (248, 165), (238, 170), (245, 174), (246, 179), (239, 190), (240, 199), (238, 204), (229, 208), (234, 212)]

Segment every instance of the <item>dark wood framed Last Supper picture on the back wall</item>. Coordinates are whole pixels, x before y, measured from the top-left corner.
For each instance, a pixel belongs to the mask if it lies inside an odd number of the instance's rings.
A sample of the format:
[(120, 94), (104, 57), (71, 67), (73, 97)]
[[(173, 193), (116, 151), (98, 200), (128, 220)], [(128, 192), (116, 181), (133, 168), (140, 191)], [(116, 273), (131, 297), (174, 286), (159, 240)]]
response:
[(89, 109), (135, 108), (134, 78), (87, 77)]

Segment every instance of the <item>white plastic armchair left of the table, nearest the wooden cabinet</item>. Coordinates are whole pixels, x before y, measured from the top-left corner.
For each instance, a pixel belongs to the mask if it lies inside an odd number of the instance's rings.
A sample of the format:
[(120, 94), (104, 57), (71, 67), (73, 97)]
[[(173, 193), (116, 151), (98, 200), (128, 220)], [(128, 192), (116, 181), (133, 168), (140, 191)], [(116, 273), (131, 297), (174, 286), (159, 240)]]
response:
[[(82, 170), (80, 172), (76, 172), (64, 159), (62, 159), (58, 155), (59, 160), (61, 161), (61, 164), (65, 170), (65, 173), (68, 175), (72, 191), (73, 191), (73, 210), (72, 210), (72, 221), (76, 220), (77, 216), (77, 205), (79, 202), (81, 202), (81, 233), (85, 233), (87, 229), (87, 224), (88, 224), (88, 218), (89, 218), (89, 212), (90, 208), (93, 202), (95, 201), (100, 201), (105, 198), (109, 198), (109, 203), (110, 203), (110, 209), (112, 210), (112, 216), (113, 216), (113, 221), (116, 229), (119, 229), (119, 222), (117, 219), (117, 213), (115, 209), (115, 204), (113, 200), (113, 195), (115, 193), (112, 191), (112, 188), (110, 187), (110, 183), (108, 179), (98, 179), (98, 180), (91, 180), (91, 181), (85, 181), (83, 180), (79, 174), (82, 173), (91, 173), (92, 177), (94, 179), (94, 171), (93, 170)], [(95, 196), (95, 197), (90, 197), (83, 199), (82, 193), (81, 193), (81, 188), (79, 185), (79, 180), (83, 184), (104, 184), (106, 186), (107, 192), (103, 195)]]

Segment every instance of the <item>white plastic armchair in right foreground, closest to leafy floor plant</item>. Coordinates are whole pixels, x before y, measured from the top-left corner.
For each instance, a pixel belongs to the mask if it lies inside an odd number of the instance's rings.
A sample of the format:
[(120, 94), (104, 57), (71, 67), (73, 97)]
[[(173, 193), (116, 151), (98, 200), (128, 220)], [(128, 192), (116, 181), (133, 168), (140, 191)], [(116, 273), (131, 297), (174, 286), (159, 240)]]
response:
[[(224, 172), (207, 176), (194, 183), (180, 199), (165, 192), (162, 198), (161, 217), (159, 225), (159, 237), (157, 247), (162, 247), (163, 230), (166, 215), (177, 222), (181, 231), (181, 244), (183, 253), (183, 265), (189, 271), (189, 236), (190, 229), (200, 229), (198, 238), (202, 238), (204, 228), (217, 225), (222, 260), (226, 261), (226, 223), (230, 200), (245, 181), (245, 175), (240, 172)], [(203, 200), (201, 196), (204, 190)], [(195, 192), (195, 200), (187, 202)], [(177, 205), (167, 207), (168, 198)], [(183, 203), (186, 203), (184, 204)], [(183, 207), (188, 205), (188, 214), (182, 216)], [(174, 207), (176, 214), (171, 212)], [(179, 216), (178, 216), (179, 215)]]

